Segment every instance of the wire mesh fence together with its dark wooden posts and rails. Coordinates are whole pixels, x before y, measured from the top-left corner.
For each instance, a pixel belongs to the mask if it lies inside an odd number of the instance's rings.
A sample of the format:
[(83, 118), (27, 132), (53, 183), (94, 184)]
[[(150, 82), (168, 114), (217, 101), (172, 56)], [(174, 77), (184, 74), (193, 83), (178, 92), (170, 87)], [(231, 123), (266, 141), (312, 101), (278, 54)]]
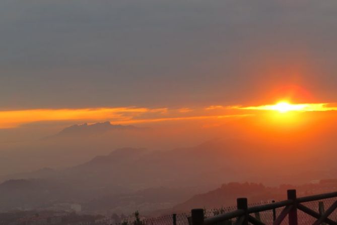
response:
[(296, 197), (296, 190), (288, 190), (285, 201), (247, 204), (239, 198), (236, 207), (193, 209), (191, 213), (171, 214), (116, 225), (337, 225), (337, 192)]

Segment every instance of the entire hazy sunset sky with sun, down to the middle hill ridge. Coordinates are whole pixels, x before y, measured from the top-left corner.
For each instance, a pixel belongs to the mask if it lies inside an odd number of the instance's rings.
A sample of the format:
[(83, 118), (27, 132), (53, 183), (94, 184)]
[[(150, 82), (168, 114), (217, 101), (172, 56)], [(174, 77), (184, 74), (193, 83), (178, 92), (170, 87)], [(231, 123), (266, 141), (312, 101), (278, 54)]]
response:
[[(217, 138), (334, 153), (336, 15), (334, 0), (0, 1), (0, 176)], [(106, 121), (147, 129), (56, 135)]]

